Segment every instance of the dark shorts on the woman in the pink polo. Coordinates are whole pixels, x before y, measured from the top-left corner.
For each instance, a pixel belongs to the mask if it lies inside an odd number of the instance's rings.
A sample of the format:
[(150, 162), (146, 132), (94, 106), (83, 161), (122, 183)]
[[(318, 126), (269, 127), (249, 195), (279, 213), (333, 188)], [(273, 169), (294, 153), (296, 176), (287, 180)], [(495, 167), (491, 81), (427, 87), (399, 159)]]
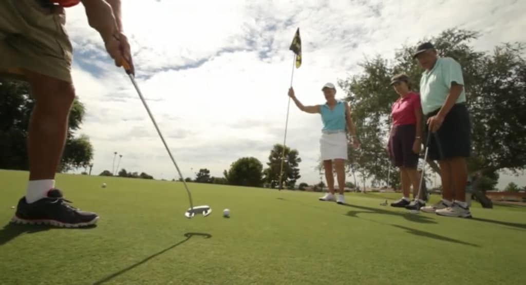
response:
[(389, 137), (390, 156), (396, 167), (417, 168), (418, 154), (413, 152), (417, 126), (395, 125)]

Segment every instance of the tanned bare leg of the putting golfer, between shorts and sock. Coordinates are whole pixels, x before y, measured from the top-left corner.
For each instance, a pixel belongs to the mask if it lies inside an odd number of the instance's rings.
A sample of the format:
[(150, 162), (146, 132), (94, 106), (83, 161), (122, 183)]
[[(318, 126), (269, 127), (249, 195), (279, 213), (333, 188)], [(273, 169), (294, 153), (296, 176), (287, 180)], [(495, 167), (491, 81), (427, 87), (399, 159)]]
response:
[(36, 99), (29, 122), (29, 180), (54, 179), (66, 141), (73, 84), (26, 72)]

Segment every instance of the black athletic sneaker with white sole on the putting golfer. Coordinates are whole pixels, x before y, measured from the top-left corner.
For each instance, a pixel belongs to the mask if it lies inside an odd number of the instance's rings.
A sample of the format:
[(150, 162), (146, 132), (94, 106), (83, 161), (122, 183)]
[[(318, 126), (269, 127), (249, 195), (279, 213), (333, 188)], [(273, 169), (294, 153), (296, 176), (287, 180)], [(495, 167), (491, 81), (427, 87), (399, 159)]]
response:
[(19, 225), (51, 225), (63, 228), (79, 228), (94, 225), (98, 215), (94, 212), (81, 211), (70, 206), (62, 196), (62, 191), (52, 189), (47, 197), (31, 204), (22, 197), (18, 201), (15, 216), (11, 222)]

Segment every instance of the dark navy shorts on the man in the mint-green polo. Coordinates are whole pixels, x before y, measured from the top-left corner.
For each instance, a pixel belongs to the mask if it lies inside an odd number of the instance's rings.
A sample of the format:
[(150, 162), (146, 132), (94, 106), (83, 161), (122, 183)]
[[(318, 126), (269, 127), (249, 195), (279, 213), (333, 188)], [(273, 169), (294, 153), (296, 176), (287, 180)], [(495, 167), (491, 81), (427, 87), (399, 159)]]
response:
[[(434, 110), (426, 115), (426, 123), (427, 119), (436, 115), (439, 110)], [(429, 126), (426, 126), (426, 136), (428, 129)], [(465, 103), (453, 105), (444, 117), (442, 126), (436, 133), (431, 134), (428, 157), (432, 160), (469, 157), (471, 154), (470, 134), (471, 122), (468, 107)]]

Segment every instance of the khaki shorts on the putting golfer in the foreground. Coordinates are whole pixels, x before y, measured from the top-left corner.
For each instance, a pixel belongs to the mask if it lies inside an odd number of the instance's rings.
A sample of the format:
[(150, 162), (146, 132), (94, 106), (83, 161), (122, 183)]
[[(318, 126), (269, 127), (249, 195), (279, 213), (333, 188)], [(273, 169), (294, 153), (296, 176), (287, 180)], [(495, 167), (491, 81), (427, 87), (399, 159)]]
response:
[(0, 2), (0, 75), (25, 79), (23, 70), (72, 82), (72, 45), (60, 7), (37, 0)]

